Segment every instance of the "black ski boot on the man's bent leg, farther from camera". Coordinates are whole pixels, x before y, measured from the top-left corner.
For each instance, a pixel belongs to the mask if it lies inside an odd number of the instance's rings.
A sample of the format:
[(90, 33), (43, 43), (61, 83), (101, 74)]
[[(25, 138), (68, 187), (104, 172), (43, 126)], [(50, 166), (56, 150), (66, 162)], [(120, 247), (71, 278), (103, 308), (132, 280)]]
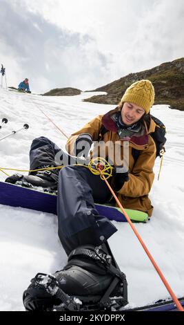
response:
[[(37, 169), (54, 166), (39, 166)], [(59, 169), (43, 170), (30, 173), (30, 175), (14, 174), (6, 178), (6, 183), (21, 185), (23, 187), (41, 186), (57, 189)]]

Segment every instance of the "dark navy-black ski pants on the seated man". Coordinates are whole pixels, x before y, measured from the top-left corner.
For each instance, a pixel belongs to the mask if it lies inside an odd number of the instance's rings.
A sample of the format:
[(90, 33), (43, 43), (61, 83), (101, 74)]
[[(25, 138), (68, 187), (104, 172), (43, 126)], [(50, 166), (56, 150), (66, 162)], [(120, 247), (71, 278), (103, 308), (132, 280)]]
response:
[[(60, 157), (59, 162), (56, 156)], [(105, 181), (87, 167), (72, 165), (76, 159), (68, 156), (45, 137), (34, 139), (30, 148), (30, 169), (61, 165), (62, 158), (69, 158), (68, 165), (58, 171), (57, 198), (58, 233), (66, 254), (79, 245), (101, 245), (116, 232), (115, 226), (99, 215), (94, 205), (110, 198)]]

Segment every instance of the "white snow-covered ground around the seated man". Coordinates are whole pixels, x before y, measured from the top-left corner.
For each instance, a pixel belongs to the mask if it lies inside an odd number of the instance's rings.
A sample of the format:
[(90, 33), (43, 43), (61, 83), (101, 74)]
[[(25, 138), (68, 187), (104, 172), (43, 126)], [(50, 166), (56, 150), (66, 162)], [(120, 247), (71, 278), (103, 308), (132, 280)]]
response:
[[(94, 93), (92, 93), (94, 95)], [(49, 122), (48, 114), (63, 131), (70, 133), (113, 108), (111, 105), (82, 102), (89, 93), (74, 97), (42, 97), (0, 91), (0, 138), (28, 123), (28, 130), (20, 131), (0, 141), (0, 168), (29, 168), (29, 148), (34, 138), (46, 136), (59, 147), (65, 137)], [(167, 127), (166, 154), (160, 180), (157, 180), (160, 160), (150, 198), (154, 213), (150, 222), (136, 224), (143, 241), (159, 264), (167, 281), (178, 297), (184, 294), (184, 112), (156, 105), (152, 114)], [(6, 171), (14, 174), (14, 171)], [(0, 171), (0, 180), (6, 175)], [(1, 195), (1, 193), (0, 193)], [(24, 310), (22, 293), (37, 272), (52, 273), (61, 269), (66, 255), (57, 237), (57, 216), (0, 205), (0, 310)], [(118, 232), (110, 239), (110, 246), (123, 272), (127, 275), (130, 307), (152, 303), (168, 297), (167, 290), (148, 260), (128, 223), (116, 223)]]

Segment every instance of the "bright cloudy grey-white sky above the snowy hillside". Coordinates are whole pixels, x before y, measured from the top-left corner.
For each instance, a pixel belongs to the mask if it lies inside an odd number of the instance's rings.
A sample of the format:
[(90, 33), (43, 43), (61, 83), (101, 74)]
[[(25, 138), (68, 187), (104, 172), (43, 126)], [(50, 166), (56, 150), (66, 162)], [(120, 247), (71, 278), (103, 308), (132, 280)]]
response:
[(0, 0), (8, 86), (95, 89), (184, 56), (183, 0)]

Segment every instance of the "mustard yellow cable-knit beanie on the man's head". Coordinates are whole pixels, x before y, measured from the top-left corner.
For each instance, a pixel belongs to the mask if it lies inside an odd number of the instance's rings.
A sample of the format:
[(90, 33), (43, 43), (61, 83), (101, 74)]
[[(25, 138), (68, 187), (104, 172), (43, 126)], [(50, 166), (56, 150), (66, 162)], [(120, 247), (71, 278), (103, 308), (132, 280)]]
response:
[(132, 102), (143, 107), (145, 113), (150, 112), (150, 108), (154, 104), (154, 86), (150, 80), (140, 80), (134, 82), (127, 88), (121, 102)]

